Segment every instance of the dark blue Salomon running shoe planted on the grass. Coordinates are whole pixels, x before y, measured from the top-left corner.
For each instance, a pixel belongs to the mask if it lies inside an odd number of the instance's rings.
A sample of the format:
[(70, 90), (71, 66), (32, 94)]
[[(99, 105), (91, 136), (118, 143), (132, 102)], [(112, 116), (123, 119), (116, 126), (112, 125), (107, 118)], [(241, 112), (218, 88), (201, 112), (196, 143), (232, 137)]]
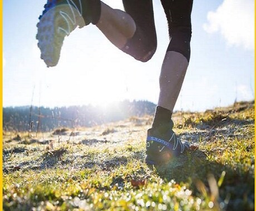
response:
[(181, 142), (172, 129), (149, 129), (146, 140), (146, 163), (157, 165), (187, 152), (188, 142)]

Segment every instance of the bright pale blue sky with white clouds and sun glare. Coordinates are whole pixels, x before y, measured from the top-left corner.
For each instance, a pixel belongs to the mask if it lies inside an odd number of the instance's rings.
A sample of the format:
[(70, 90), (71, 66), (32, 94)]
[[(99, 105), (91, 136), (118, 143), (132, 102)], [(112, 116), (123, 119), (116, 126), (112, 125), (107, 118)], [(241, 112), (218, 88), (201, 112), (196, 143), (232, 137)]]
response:
[[(121, 0), (104, 2), (122, 9)], [(169, 37), (160, 0), (153, 2), (158, 46), (149, 62), (122, 53), (90, 25), (66, 37), (57, 67), (46, 68), (35, 38), (46, 0), (4, 0), (3, 106), (157, 103)], [(254, 99), (254, 1), (196, 0), (192, 26), (190, 64), (175, 109)]]

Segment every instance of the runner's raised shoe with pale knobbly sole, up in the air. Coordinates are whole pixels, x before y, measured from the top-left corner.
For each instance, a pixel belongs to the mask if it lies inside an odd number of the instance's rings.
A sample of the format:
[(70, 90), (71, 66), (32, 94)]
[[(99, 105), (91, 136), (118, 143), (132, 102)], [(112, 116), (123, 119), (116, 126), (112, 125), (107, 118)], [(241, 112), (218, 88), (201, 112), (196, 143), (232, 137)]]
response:
[[(37, 24), (38, 47), (41, 59), (47, 67), (56, 66), (60, 59), (64, 38), (77, 26), (82, 28), (90, 23), (84, 19), (82, 0), (47, 0), (45, 10)], [(74, 3), (77, 2), (77, 3)]]

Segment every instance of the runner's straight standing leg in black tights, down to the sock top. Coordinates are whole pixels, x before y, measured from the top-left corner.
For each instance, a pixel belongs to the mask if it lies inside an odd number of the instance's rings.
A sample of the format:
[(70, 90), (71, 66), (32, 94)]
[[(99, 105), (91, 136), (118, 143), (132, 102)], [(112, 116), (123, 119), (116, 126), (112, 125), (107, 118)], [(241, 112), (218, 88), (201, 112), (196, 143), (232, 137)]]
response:
[(170, 43), (160, 73), (158, 105), (173, 112), (190, 59), (193, 0), (161, 0), (168, 19)]

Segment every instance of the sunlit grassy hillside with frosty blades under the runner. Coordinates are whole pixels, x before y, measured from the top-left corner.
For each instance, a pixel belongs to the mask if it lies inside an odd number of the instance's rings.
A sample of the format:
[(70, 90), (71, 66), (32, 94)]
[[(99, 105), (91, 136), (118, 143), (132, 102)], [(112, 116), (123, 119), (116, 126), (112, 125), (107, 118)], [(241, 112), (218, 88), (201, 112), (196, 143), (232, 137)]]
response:
[(254, 102), (175, 113), (198, 149), (148, 167), (152, 116), (3, 133), (4, 210), (254, 210)]

